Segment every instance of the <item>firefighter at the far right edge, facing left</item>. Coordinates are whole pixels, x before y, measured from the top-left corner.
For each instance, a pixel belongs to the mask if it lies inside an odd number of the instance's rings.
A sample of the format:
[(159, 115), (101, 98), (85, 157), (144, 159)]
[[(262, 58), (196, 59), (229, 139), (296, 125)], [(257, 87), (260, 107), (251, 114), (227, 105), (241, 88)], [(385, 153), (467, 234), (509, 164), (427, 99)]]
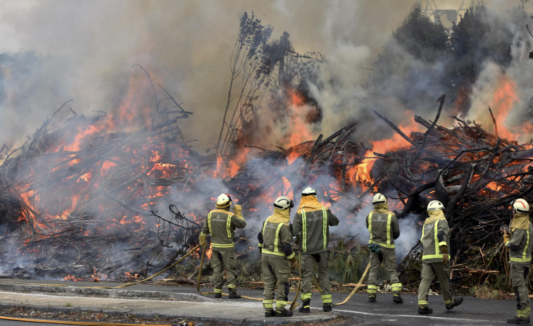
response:
[(503, 242), (509, 249), (510, 280), (516, 294), (516, 315), (507, 320), (510, 324), (527, 324), (531, 315), (531, 301), (527, 291), (527, 275), (533, 247), (533, 226), (529, 222), (529, 203), (524, 199), (513, 202), (513, 220), (510, 234), (503, 231)]

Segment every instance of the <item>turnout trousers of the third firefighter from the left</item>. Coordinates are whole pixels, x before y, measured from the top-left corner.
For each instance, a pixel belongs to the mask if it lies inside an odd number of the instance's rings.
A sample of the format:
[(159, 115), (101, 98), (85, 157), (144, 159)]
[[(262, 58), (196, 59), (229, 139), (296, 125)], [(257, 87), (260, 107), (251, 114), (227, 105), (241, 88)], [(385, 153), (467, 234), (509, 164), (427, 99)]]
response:
[(301, 264), (301, 301), (311, 300), (311, 284), (313, 280), (313, 264), (318, 264), (318, 282), (322, 290), (322, 304), (330, 305), (331, 287), (330, 274), (327, 266), (327, 251), (320, 253), (302, 253), (300, 258)]

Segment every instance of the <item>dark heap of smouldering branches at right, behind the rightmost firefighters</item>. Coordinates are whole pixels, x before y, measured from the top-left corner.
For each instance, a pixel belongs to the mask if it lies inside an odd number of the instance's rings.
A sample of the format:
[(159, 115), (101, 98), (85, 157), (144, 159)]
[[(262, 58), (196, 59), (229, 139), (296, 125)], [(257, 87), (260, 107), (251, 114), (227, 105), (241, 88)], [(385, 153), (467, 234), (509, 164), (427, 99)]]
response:
[[(458, 125), (452, 129), (415, 116), (426, 132), (407, 137), (385, 120), (410, 143), (406, 149), (374, 153), (379, 159), (370, 175), (377, 191), (396, 192), (403, 204), (399, 218), (425, 210), (429, 199), (446, 206), (446, 218), (453, 227), (456, 245), (482, 246), (500, 240), (499, 227), (511, 218), (510, 203), (517, 198), (531, 201), (533, 190), (533, 146), (498, 137), (452, 117)], [(491, 110), (489, 108), (489, 113)]]

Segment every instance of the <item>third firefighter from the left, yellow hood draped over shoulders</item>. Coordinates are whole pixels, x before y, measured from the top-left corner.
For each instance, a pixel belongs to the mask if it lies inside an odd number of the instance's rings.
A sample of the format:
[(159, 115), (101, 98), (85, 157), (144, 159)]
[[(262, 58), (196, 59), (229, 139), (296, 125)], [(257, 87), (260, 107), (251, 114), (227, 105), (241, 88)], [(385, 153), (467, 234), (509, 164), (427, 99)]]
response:
[(301, 252), (301, 289), (302, 301), (298, 309), (309, 313), (311, 303), (311, 279), (313, 265), (318, 264), (318, 280), (322, 289), (322, 310), (332, 310), (330, 276), (327, 266), (327, 242), (330, 238), (330, 226), (338, 225), (339, 219), (317, 199), (315, 189), (307, 187), (301, 193), (301, 201), (292, 222), (294, 235), (297, 237)]

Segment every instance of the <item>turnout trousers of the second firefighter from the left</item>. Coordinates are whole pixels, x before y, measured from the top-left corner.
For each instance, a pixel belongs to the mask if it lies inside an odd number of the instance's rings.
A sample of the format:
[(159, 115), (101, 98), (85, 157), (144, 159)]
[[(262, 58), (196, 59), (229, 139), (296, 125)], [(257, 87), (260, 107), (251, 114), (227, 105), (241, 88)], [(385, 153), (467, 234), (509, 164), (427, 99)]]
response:
[(287, 296), (289, 295), (289, 272), (291, 267), (289, 261), (284, 256), (261, 256), (262, 271), (261, 280), (265, 286), (263, 291), (263, 307), (266, 312), (273, 309), (274, 291), (277, 286), (276, 311), (283, 311), (287, 306)]

